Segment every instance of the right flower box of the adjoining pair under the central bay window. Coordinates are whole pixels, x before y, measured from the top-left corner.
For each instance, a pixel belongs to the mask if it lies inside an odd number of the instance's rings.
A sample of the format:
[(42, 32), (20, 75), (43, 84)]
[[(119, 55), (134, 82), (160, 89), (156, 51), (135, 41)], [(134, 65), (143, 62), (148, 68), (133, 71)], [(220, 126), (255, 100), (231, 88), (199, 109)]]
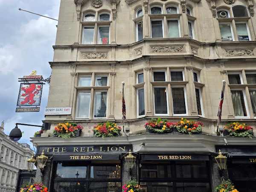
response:
[(177, 122), (177, 131), (184, 134), (200, 134), (202, 133), (202, 128), (204, 124), (199, 121), (187, 120), (186, 118), (181, 118)]

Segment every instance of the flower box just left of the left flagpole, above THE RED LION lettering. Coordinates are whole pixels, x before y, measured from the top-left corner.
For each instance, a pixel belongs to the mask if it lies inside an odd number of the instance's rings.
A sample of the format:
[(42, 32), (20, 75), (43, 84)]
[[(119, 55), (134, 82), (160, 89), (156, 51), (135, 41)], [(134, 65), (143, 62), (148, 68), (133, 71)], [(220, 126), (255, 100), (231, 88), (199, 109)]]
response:
[(93, 128), (94, 137), (118, 137), (120, 136), (121, 127), (115, 122), (99, 123)]

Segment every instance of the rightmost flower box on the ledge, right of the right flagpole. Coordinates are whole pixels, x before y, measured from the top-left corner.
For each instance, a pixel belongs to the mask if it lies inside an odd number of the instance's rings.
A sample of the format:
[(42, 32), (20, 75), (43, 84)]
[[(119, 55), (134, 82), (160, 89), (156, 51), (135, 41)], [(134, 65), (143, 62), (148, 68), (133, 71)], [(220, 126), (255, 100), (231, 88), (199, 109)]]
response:
[(253, 127), (245, 123), (232, 122), (224, 127), (224, 134), (230, 137), (253, 137)]

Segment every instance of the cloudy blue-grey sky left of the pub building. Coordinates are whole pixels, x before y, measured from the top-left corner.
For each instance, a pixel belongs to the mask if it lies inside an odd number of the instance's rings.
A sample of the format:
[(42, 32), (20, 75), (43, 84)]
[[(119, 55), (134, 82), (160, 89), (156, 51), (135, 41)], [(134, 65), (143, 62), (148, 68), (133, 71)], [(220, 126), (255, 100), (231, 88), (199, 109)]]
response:
[[(0, 0), (0, 122), (9, 135), (15, 123), (42, 125), (49, 85), (43, 87), (40, 112), (15, 113), (20, 82), (18, 78), (37, 70), (38, 75), (51, 75), (49, 61), (53, 58), (58, 21), (27, 12), (58, 19), (60, 0)], [(23, 131), (20, 143), (28, 143), (36, 127), (18, 126)]]

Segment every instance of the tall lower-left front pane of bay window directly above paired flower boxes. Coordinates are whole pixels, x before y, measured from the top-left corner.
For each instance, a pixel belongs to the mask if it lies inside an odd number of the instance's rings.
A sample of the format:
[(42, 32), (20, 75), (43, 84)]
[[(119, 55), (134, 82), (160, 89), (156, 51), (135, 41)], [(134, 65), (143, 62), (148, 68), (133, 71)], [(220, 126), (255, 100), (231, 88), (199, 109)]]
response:
[(156, 114), (167, 114), (166, 88), (154, 88), (154, 102)]

